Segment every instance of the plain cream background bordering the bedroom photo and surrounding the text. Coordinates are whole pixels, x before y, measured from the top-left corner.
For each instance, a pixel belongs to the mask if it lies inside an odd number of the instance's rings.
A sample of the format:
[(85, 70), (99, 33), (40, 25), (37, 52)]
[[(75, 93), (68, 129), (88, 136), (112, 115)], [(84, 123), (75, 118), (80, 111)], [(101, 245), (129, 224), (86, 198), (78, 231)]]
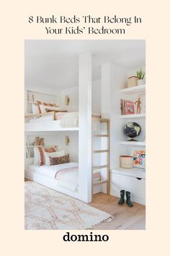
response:
[[(168, 3), (1, 1), (1, 255), (169, 255)], [(49, 36), (37, 25), (28, 23), (30, 15), (39, 14), (136, 15), (143, 18), (143, 24), (130, 26), (126, 35)], [(94, 231), (109, 234), (109, 242), (98, 243), (63, 242), (66, 231), (24, 231), (24, 39), (34, 38), (146, 39), (146, 231)]]

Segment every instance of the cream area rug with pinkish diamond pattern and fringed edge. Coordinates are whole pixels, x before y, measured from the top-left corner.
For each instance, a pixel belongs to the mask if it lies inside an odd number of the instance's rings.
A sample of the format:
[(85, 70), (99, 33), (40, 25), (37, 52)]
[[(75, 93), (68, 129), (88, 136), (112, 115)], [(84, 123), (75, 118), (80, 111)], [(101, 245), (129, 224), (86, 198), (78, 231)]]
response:
[(25, 229), (93, 229), (114, 218), (35, 182), (25, 184)]

